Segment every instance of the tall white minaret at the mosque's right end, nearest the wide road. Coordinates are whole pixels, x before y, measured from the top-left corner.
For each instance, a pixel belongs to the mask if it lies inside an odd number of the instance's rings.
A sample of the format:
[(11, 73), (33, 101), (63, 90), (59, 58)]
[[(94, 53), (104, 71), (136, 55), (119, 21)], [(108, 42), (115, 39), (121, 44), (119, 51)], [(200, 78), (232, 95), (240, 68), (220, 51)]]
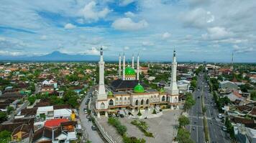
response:
[(176, 61), (176, 53), (174, 50), (173, 51), (172, 72), (171, 72), (171, 78), (170, 78), (170, 95), (178, 95), (176, 72), (177, 72), (177, 61)]

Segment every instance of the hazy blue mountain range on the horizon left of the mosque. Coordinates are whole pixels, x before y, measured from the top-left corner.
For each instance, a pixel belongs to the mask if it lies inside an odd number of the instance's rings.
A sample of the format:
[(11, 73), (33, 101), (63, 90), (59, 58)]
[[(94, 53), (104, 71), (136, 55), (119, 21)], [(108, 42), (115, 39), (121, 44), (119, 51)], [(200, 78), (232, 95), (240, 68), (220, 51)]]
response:
[(43, 56), (0, 56), (1, 61), (99, 61), (99, 56), (82, 54), (64, 54), (53, 51)]

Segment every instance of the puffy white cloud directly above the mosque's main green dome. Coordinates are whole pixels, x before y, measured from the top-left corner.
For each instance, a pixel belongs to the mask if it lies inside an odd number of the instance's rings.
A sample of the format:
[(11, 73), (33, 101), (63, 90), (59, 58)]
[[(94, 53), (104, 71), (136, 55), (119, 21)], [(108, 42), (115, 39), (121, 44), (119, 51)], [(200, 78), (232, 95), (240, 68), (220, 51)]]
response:
[(145, 27), (148, 26), (148, 24), (147, 24), (147, 21), (145, 20), (134, 22), (130, 18), (121, 18), (121, 19), (116, 19), (111, 26), (117, 30), (135, 31), (139, 29), (144, 29)]

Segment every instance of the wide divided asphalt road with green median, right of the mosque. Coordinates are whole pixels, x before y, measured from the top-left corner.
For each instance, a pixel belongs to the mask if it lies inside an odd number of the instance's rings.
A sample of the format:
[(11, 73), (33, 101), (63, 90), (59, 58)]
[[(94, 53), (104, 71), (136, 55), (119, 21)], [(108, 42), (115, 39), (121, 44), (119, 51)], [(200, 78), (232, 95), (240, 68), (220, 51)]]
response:
[[(197, 88), (193, 92), (193, 97), (196, 99), (196, 104), (189, 111), (189, 117), (191, 119), (191, 124), (188, 126), (188, 129), (191, 131), (191, 139), (196, 143), (205, 142), (204, 135), (204, 123), (203, 115), (201, 110), (201, 95), (204, 94), (204, 104), (206, 106), (206, 119), (209, 127), (210, 142), (216, 143), (228, 143), (229, 138), (227, 133), (222, 130), (224, 125), (217, 116), (219, 114), (216, 107), (214, 107), (213, 96), (209, 93), (208, 84), (204, 79), (204, 75), (200, 74), (198, 76)], [(200, 97), (200, 98), (198, 98)]]

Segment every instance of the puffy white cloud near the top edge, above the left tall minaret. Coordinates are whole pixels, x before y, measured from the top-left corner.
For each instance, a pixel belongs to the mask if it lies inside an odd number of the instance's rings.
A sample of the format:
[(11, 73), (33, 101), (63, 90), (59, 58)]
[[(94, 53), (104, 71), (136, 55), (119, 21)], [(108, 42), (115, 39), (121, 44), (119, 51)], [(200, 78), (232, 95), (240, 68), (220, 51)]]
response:
[(107, 14), (109, 14), (111, 10), (108, 8), (104, 8), (102, 10), (96, 9), (96, 2), (91, 1), (83, 9), (81, 9), (81, 14), (83, 15), (84, 19), (98, 21), (99, 19), (104, 19)]

